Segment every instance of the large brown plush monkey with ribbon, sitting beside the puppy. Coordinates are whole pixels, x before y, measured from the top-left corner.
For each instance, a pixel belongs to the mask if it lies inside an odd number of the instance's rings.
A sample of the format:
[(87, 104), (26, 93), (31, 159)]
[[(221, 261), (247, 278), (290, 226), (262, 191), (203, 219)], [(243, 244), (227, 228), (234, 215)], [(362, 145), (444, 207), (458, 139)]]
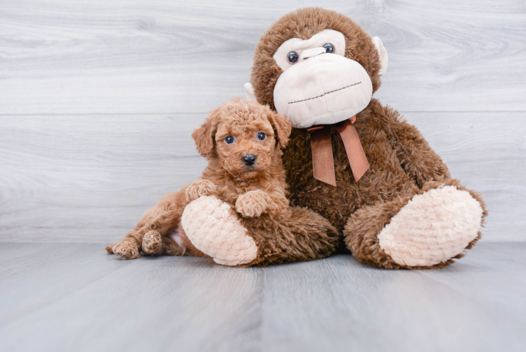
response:
[[(245, 89), (293, 126), (283, 155), (291, 205), (326, 218), (360, 263), (441, 268), (480, 239), (485, 204), (451, 178), (416, 127), (372, 98), (386, 69), (387, 51), (378, 37), (340, 13), (302, 8), (259, 39)], [(211, 207), (206, 197), (184, 210), (182, 226), (198, 248), (204, 239), (222, 238), (216, 222), (200, 223), (198, 230), (194, 225)], [(231, 214), (222, 221), (239, 220)], [(254, 261), (245, 265), (271, 263), (262, 258), (276, 255), (269, 252), (274, 239), (258, 235), (262, 230), (245, 230), (245, 236), (259, 239)], [(309, 258), (335, 251), (328, 241), (309, 239), (307, 228), (296, 232)], [(227, 256), (227, 244), (223, 250)], [(276, 250), (280, 262), (309, 259)]]

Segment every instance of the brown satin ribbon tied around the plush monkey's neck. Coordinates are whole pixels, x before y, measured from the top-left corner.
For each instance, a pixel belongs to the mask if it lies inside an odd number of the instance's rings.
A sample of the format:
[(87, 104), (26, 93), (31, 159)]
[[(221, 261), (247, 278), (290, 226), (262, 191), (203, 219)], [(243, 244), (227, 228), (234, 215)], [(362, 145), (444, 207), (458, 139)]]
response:
[[(349, 120), (335, 124), (336, 130), (342, 137), (347, 158), (351, 165), (354, 180), (358, 182), (369, 168), (369, 163), (361, 146), (360, 137), (353, 124), (356, 122), (356, 115)], [(312, 149), (312, 168), (314, 178), (336, 186), (336, 175), (334, 171), (333, 144), (331, 142), (330, 125), (319, 125), (307, 128), (311, 132)]]

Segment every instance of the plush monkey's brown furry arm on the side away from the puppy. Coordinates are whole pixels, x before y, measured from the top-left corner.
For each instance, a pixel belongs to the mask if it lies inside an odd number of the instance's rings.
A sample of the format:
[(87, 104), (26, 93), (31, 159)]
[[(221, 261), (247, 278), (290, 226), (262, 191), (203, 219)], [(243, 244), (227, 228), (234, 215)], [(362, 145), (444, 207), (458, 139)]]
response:
[(400, 165), (416, 180), (419, 187), (428, 181), (451, 178), (447, 165), (429, 146), (428, 141), (416, 127), (409, 125), (398, 111), (392, 108), (382, 106), (381, 111), (378, 112), (387, 120), (387, 137)]

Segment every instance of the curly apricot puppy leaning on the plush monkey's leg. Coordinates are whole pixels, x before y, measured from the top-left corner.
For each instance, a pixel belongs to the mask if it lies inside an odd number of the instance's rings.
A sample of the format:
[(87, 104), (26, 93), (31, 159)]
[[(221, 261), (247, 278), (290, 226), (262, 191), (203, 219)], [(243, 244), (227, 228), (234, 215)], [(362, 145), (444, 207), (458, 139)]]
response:
[(219, 106), (192, 134), (198, 152), (208, 160), (202, 177), (163, 197), (106, 251), (124, 259), (139, 258), (141, 251), (152, 256), (205, 256), (181, 227), (184, 208), (200, 196), (217, 196), (243, 218), (286, 220), (290, 207), (281, 149), (290, 132), (286, 118), (255, 101), (236, 99)]

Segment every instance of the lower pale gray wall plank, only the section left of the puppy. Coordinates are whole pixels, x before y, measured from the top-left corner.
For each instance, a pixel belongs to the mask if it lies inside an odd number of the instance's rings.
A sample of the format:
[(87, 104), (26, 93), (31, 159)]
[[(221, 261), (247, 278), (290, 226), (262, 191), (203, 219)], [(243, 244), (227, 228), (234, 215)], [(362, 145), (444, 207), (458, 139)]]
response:
[[(188, 118), (189, 116), (189, 118)], [(0, 117), (2, 241), (112, 241), (206, 165), (203, 114)]]

